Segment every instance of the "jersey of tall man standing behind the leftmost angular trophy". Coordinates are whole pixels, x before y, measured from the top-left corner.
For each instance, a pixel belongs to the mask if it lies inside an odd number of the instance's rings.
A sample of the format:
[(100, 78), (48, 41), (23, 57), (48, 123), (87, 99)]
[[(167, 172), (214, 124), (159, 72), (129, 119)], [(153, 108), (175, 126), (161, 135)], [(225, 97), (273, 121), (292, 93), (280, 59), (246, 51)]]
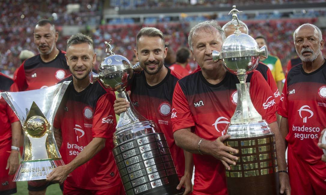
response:
[(49, 87), (70, 75), (65, 54), (59, 50), (58, 56), (50, 62), (43, 62), (40, 54), (26, 59), (14, 75), (19, 91)]

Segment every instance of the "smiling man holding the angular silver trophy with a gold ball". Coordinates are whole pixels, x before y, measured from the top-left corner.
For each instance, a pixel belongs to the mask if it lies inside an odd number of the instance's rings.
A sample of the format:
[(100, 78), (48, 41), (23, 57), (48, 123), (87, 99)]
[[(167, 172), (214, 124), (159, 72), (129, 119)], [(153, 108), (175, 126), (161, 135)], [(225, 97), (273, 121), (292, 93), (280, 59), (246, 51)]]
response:
[(112, 154), (115, 96), (88, 79), (96, 61), (93, 40), (82, 33), (72, 35), (66, 59), (72, 75), (61, 82), (71, 83), (53, 124), (62, 134), (60, 153), (66, 165), (56, 167), (47, 181), (65, 182), (64, 194), (69, 195), (123, 194)]

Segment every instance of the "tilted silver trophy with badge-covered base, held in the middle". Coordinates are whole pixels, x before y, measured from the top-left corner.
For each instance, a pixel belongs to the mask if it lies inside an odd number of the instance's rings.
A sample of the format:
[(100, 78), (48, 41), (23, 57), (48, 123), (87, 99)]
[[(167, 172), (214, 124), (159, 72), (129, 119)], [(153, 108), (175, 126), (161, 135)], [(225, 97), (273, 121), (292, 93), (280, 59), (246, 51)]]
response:
[[(105, 42), (109, 47), (108, 57), (100, 64), (98, 74), (90, 73), (90, 82), (99, 80), (108, 89), (117, 91), (118, 98), (131, 102), (125, 88), (141, 67), (139, 63), (132, 65), (125, 57), (115, 55), (110, 43)], [(114, 159), (127, 195), (182, 193), (176, 190), (179, 179), (164, 134), (132, 104), (120, 114), (113, 143)]]

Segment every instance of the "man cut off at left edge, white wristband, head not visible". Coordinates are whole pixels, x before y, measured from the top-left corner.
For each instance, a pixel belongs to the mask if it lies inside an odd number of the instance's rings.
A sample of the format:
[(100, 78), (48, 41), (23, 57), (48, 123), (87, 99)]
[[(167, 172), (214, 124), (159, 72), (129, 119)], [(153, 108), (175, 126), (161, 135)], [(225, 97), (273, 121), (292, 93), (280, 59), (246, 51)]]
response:
[[(14, 81), (0, 72), (0, 92), (14, 91)], [(17, 192), (14, 174), (19, 165), (22, 127), (16, 114), (0, 96), (0, 194)]]

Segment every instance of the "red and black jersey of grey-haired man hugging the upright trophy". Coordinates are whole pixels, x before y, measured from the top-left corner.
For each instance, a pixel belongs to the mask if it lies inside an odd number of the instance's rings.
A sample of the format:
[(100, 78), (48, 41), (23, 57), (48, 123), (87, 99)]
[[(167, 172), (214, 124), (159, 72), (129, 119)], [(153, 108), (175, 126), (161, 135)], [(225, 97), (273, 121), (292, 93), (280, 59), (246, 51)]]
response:
[[(256, 110), (268, 123), (276, 121), (274, 95), (263, 76), (254, 70), (248, 74), (249, 81)], [(229, 72), (216, 85), (207, 82), (200, 70), (180, 79), (172, 101), (173, 132), (191, 128), (206, 140), (224, 135), (238, 101), (237, 83), (237, 77)], [(222, 162), (210, 155), (194, 154), (193, 157), (196, 167), (193, 194), (227, 194)]]

